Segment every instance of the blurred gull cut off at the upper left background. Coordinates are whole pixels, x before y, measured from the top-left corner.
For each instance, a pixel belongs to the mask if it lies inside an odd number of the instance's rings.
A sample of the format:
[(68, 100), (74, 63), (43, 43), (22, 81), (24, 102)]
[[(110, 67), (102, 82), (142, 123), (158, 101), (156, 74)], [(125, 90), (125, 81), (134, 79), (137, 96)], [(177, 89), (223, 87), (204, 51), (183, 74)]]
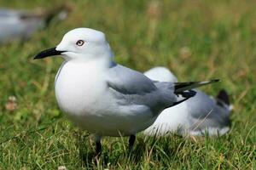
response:
[(70, 10), (67, 5), (45, 12), (0, 8), (0, 43), (28, 39), (48, 26), (50, 20), (64, 20)]

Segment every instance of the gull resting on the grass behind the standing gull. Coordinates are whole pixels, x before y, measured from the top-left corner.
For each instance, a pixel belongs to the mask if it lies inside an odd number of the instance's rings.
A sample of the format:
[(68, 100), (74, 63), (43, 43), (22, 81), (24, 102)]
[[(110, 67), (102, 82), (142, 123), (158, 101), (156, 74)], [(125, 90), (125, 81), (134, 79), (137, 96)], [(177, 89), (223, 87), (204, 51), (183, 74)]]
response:
[[(155, 67), (144, 72), (144, 75), (154, 81), (177, 82), (177, 77), (166, 67)], [(217, 97), (213, 98), (201, 90), (194, 90), (195, 97), (162, 111), (154, 124), (143, 133), (150, 136), (169, 133), (217, 136), (229, 132), (232, 105), (228, 94), (220, 90)]]

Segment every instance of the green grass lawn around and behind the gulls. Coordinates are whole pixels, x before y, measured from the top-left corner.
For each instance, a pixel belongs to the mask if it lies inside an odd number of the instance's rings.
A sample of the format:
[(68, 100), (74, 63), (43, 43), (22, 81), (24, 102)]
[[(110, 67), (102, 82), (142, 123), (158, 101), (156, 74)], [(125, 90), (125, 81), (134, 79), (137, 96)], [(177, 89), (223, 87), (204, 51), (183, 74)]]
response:
[[(2, 7), (27, 9), (53, 8), (61, 0), (24, 2), (0, 0)], [(255, 1), (67, 2), (73, 6), (67, 20), (27, 42), (0, 46), (0, 169), (256, 169)], [(230, 133), (196, 140), (138, 134), (131, 154), (127, 138), (105, 138), (96, 161), (89, 134), (56, 105), (54, 77), (62, 60), (32, 59), (82, 26), (104, 31), (122, 65), (138, 71), (163, 65), (181, 81), (220, 78), (202, 89), (230, 93)], [(13, 112), (4, 107), (11, 95), (18, 103)]]

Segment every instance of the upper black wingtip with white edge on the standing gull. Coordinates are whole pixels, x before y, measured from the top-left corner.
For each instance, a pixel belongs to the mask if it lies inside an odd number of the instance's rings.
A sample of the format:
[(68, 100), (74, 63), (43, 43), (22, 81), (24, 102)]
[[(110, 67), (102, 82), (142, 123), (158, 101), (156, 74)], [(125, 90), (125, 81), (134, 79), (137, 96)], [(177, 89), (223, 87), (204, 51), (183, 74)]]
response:
[(213, 82), (219, 82), (218, 79), (205, 81), (205, 82), (175, 82), (174, 83), (174, 93), (182, 94), (186, 90), (190, 90), (193, 88), (199, 88), (201, 86), (205, 86), (207, 84), (212, 84)]

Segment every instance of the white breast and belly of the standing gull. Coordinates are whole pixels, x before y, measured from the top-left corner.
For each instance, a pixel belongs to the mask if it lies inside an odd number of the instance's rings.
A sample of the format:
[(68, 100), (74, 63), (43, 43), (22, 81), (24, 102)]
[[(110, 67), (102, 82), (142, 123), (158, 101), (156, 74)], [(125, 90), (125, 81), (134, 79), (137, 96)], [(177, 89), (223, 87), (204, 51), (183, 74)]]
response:
[(105, 74), (97, 65), (64, 63), (55, 78), (61, 110), (79, 127), (101, 135), (130, 135), (151, 125), (155, 117), (148, 107), (117, 105), (108, 93)]

